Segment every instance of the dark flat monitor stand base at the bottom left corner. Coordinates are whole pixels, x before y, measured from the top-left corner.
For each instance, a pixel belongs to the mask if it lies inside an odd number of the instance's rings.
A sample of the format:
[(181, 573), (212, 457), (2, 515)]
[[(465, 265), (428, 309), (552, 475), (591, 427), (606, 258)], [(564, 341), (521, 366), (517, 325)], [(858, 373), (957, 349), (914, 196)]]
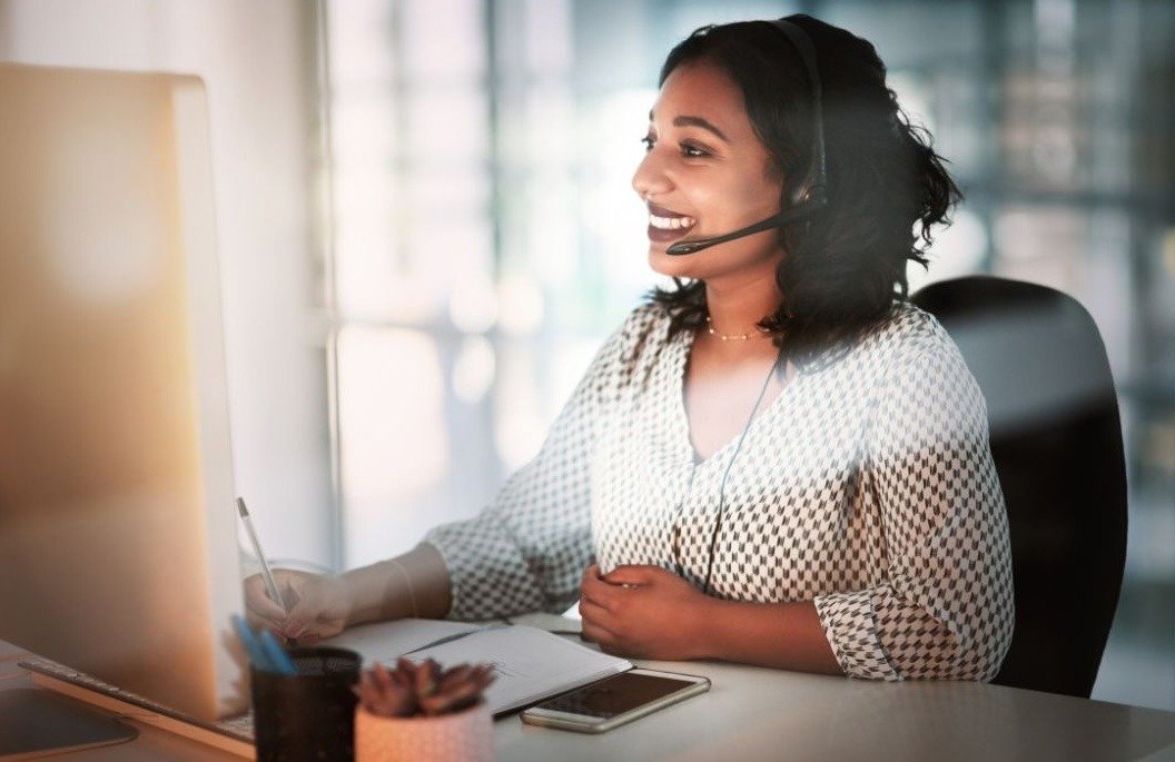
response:
[(0, 760), (125, 743), (139, 730), (108, 714), (42, 688), (0, 690)]

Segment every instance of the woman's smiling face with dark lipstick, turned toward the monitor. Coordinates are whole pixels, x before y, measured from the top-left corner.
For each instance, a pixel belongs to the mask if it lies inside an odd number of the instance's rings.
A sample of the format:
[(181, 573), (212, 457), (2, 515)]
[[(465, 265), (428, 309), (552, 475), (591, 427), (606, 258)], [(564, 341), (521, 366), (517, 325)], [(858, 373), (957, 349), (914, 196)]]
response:
[(678, 241), (732, 232), (779, 211), (781, 180), (734, 81), (705, 62), (673, 69), (650, 113), (645, 141), (649, 151), (632, 187), (649, 204), (652, 269), (711, 284), (727, 276), (773, 276), (784, 256), (774, 229), (697, 254), (665, 252)]

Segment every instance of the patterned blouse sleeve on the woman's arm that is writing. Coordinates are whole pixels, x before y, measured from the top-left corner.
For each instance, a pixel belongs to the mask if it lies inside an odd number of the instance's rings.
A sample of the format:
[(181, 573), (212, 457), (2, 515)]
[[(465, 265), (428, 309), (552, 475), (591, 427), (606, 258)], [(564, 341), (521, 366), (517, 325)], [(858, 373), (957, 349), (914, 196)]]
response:
[(563, 612), (579, 596), (591, 560), (590, 460), (620, 364), (638, 331), (633, 316), (604, 344), (529, 464), (477, 517), (434, 528), (451, 582), (450, 619)]

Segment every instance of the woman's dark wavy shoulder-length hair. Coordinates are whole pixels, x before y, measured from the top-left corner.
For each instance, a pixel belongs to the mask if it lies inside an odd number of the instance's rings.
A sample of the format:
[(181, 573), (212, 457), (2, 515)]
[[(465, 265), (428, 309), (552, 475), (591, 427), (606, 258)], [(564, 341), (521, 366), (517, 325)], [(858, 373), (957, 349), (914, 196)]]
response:
[[(961, 194), (929, 134), (898, 106), (870, 42), (808, 15), (786, 20), (815, 48), (828, 205), (780, 230), (787, 251), (776, 272), (783, 304), (759, 325), (805, 365), (851, 345), (907, 297), (907, 261), (927, 264), (931, 225), (949, 223)], [(799, 53), (767, 21), (705, 26), (670, 52), (659, 83), (691, 62), (717, 66), (738, 85), (787, 203), (812, 155), (812, 90)], [(700, 281), (674, 278), (673, 289), (654, 289), (650, 298), (669, 311), (671, 333), (705, 324)]]

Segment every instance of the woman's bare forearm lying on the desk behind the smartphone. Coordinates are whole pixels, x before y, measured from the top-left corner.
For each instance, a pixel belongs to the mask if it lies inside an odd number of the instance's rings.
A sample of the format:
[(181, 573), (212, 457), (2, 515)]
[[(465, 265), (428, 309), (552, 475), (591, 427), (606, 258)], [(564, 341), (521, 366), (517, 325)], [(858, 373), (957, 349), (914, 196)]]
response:
[(693, 620), (701, 659), (844, 674), (812, 601), (744, 603), (711, 598)]

